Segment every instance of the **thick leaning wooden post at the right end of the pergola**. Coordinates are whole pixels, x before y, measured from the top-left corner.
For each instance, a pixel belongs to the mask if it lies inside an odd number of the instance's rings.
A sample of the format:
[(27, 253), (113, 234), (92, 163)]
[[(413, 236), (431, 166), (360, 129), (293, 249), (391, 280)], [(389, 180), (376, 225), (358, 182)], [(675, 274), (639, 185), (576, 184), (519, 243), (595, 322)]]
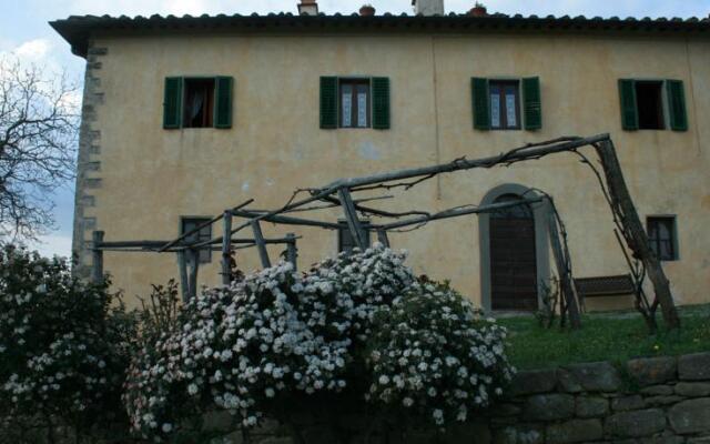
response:
[(618, 215), (623, 228), (622, 234), (633, 256), (643, 262), (648, 278), (653, 284), (656, 297), (661, 304), (663, 320), (670, 330), (680, 329), (680, 317), (670, 292), (670, 283), (661, 266), (658, 256), (651, 250), (646, 230), (641, 224), (631, 194), (626, 185), (621, 165), (617, 158), (611, 140), (600, 141), (596, 144), (597, 154), (604, 169), (607, 190), (611, 199), (612, 211)]

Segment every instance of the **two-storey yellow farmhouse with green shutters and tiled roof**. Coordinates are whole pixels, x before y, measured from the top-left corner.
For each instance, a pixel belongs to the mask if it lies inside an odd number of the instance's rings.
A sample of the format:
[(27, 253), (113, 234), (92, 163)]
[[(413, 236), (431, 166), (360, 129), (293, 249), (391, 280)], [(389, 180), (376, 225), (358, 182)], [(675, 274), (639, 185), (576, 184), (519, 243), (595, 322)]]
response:
[[(406, 0), (402, 0), (406, 1)], [(254, 198), (343, 176), (494, 155), (561, 135), (610, 133), (676, 302), (710, 301), (710, 19), (449, 13), (70, 17), (52, 27), (87, 60), (74, 220), (78, 271), (94, 230), (106, 240), (171, 240)], [(576, 276), (628, 273), (611, 214), (574, 155), (444, 175), (383, 209), (443, 210), (554, 196)], [(534, 311), (554, 274), (545, 205), (390, 233), (415, 271), (450, 279), (490, 310)], [(332, 221), (342, 212), (333, 211)], [(200, 239), (220, 233), (205, 229)], [(352, 245), (295, 231), (302, 266)], [(374, 241), (374, 238), (373, 238)], [(273, 258), (282, 246), (270, 246)], [(220, 282), (219, 253), (200, 282)], [(240, 250), (245, 271), (255, 253)], [(176, 278), (174, 254), (106, 253), (128, 296)], [(631, 296), (587, 309), (631, 306)]]

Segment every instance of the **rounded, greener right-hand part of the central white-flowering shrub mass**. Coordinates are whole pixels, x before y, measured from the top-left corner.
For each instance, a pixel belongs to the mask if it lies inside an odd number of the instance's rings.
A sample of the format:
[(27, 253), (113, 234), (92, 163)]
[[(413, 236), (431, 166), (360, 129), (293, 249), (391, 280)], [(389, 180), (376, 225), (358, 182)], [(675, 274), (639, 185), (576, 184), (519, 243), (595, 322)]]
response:
[(416, 283), (375, 314), (366, 396), (437, 426), (464, 422), (513, 377), (505, 337), (447, 284)]

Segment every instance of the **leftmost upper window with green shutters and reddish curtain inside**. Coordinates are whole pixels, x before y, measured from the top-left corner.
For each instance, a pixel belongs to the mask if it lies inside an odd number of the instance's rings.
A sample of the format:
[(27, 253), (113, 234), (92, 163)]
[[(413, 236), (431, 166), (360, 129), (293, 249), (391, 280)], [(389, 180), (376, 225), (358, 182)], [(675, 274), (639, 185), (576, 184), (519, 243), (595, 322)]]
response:
[(231, 77), (165, 79), (163, 128), (232, 128)]

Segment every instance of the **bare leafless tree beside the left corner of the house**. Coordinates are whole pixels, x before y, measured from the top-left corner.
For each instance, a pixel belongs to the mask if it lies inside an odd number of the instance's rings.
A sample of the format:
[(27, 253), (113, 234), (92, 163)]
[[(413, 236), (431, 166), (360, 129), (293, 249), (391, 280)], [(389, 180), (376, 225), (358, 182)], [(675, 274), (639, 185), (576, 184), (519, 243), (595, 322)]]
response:
[(52, 192), (74, 175), (75, 92), (63, 73), (0, 58), (0, 236), (53, 226)]

